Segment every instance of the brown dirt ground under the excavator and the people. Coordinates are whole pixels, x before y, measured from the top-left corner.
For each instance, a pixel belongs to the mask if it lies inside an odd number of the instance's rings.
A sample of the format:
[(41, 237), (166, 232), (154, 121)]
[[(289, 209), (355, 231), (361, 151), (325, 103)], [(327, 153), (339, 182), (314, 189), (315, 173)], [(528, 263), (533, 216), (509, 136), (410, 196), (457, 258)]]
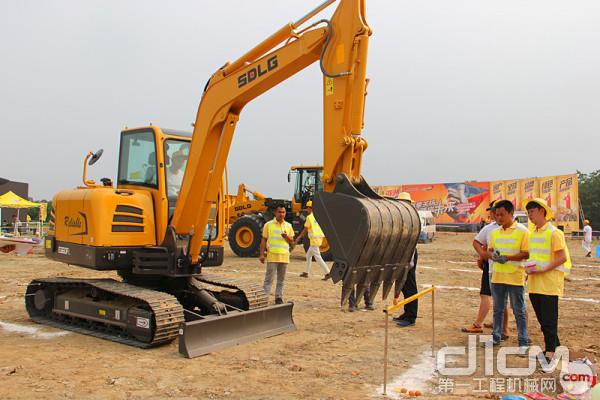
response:
[[(467, 336), (460, 327), (470, 323), (477, 312), (481, 274), (474, 262), (471, 241), (470, 234), (447, 233), (439, 234), (431, 244), (419, 245), (420, 288), (440, 286), (435, 300), (438, 348), (465, 345)], [(579, 242), (569, 241), (569, 247), (575, 267), (565, 285), (565, 299), (560, 302), (559, 333), (572, 352), (597, 363), (600, 262), (584, 258)], [(0, 255), (0, 398), (381, 398), (381, 309), (385, 303), (377, 299), (375, 311), (342, 311), (340, 286), (321, 281), (322, 272), (314, 263), (312, 276), (300, 278), (303, 268), (303, 251), (296, 249), (284, 292), (285, 300), (295, 303), (295, 332), (189, 360), (179, 355), (176, 342), (140, 350), (75, 333), (61, 334), (57, 329), (29, 321), (23, 294), (31, 279), (112, 274), (49, 261), (41, 253), (26, 257)], [(211, 272), (262, 282), (264, 266), (254, 259), (237, 258), (227, 249), (224, 265)], [(421, 398), (437, 399), (484, 398), (502, 392), (488, 387), (493, 376), (485, 377), (486, 381), (475, 380), (484, 376), (480, 367), (482, 351), (477, 355), (475, 375), (452, 378), (452, 388), (447, 380), (441, 384), (442, 377), (432, 374), (431, 360), (426, 356), (431, 343), (430, 297), (421, 300), (419, 307), (415, 326), (390, 325), (388, 393), (402, 397), (398, 393), (401, 387), (421, 389)], [(530, 337), (534, 344), (542, 345), (530, 304), (528, 311)], [(511, 337), (507, 342), (515, 345), (512, 315), (510, 324)], [(457, 365), (466, 363), (464, 357), (455, 361)], [(477, 383), (480, 387), (476, 387)]]

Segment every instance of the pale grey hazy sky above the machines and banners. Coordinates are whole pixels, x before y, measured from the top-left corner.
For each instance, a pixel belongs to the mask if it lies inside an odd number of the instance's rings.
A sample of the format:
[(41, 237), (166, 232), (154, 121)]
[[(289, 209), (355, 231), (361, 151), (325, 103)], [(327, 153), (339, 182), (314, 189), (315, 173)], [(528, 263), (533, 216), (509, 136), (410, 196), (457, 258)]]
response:
[[(215, 70), (320, 2), (0, 0), (0, 176), (50, 198), (103, 148), (90, 176), (114, 179), (123, 127), (191, 130)], [(367, 18), (370, 184), (600, 168), (598, 1), (367, 0)], [(315, 64), (244, 109), (230, 188), (289, 198), (289, 166), (322, 152)]]

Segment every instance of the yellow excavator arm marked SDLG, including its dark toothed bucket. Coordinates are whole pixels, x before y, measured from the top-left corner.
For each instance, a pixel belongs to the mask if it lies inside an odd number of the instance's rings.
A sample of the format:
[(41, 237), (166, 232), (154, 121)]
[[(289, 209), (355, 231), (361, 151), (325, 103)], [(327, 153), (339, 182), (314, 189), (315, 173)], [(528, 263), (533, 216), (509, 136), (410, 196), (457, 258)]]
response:
[(242, 109), (318, 61), (323, 73), (326, 193), (315, 198), (315, 215), (332, 245), (333, 280), (344, 281), (345, 298), (356, 285), (359, 292), (369, 286), (376, 292), (383, 282), (387, 295), (393, 282), (397, 287), (403, 283), (419, 234), (418, 215), (410, 204), (376, 195), (360, 175), (367, 148), (361, 132), (372, 33), (365, 0), (339, 0), (330, 20), (303, 27), (334, 2), (325, 1), (283, 26), (208, 81), (171, 223), (175, 233), (191, 237), (187, 253), (192, 264), (199, 262), (202, 232), (217, 200)]

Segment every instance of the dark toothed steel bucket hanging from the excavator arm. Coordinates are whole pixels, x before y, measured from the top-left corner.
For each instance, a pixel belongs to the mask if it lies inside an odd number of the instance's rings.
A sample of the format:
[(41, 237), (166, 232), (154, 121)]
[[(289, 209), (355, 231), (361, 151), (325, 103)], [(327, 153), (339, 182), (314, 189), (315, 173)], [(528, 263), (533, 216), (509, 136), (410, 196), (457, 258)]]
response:
[(331, 252), (334, 283), (342, 281), (342, 305), (356, 290), (356, 300), (369, 289), (371, 298), (383, 285), (385, 299), (392, 286), (404, 286), (421, 232), (415, 207), (407, 201), (379, 196), (364, 178), (353, 184), (340, 174), (333, 192), (315, 196), (313, 210)]

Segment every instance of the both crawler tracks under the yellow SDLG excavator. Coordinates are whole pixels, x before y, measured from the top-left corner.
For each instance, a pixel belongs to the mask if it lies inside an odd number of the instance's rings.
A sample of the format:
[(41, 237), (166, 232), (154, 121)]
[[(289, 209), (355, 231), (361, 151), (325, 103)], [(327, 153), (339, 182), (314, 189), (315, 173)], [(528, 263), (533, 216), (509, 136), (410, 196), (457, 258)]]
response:
[[(267, 306), (262, 287), (250, 281), (215, 274), (194, 279), (231, 290), (245, 310)], [(58, 304), (57, 298), (61, 299)], [(88, 308), (78, 312), (66, 306), (65, 300), (73, 305), (85, 303)], [(175, 296), (113, 279), (35, 279), (27, 287), (25, 307), (35, 322), (139, 348), (171, 342), (185, 322), (184, 309)], [(144, 310), (151, 321), (142, 335), (135, 316), (130, 315), (132, 309)]]

